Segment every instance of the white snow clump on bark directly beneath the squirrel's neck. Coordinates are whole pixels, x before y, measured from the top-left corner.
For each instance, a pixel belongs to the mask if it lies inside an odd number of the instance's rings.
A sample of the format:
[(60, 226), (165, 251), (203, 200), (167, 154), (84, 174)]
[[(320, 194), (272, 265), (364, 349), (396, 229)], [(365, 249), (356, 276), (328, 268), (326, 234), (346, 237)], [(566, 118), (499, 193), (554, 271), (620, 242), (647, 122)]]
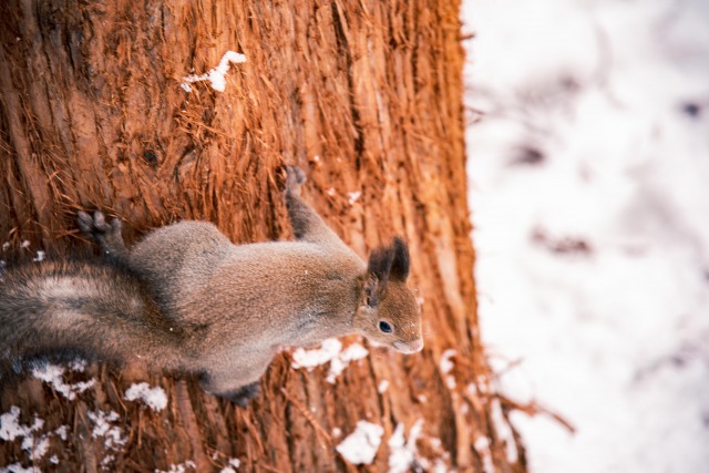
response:
[(306, 350), (298, 348), (292, 352), (292, 363), (295, 369), (306, 368), (312, 371), (316, 367), (330, 363), (330, 371), (326, 380), (335, 384), (337, 378), (345, 371), (350, 362), (361, 360), (369, 354), (369, 351), (360, 343), (352, 343), (342, 350), (342, 343), (336, 338), (328, 338), (322, 341), (320, 348)]

